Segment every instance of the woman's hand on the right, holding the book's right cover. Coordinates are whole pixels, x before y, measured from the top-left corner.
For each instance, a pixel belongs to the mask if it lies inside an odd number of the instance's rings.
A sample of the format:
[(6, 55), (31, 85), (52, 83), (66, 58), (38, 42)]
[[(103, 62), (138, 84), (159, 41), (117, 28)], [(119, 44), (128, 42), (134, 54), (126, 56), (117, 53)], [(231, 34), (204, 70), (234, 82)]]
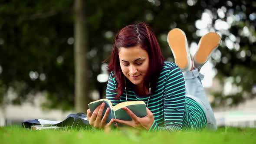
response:
[(119, 119), (114, 119), (115, 122), (120, 124), (125, 124), (131, 126), (133, 128), (144, 128), (149, 130), (152, 124), (154, 123), (154, 115), (153, 113), (147, 108), (147, 115), (143, 118), (137, 117), (129, 108), (123, 108), (132, 118), (131, 121), (123, 121)]

